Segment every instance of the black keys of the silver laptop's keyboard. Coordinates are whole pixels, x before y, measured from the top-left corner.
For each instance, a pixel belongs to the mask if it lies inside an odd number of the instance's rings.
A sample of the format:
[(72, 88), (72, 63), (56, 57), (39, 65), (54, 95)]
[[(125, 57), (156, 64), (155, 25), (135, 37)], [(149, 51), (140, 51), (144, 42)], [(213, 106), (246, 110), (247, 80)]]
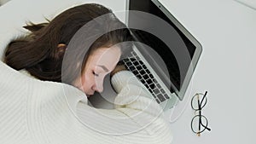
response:
[(131, 56), (124, 59), (125, 67), (127, 70), (131, 71), (148, 89), (148, 91), (154, 96), (157, 103), (161, 103), (170, 99), (166, 94), (166, 91), (161, 88), (160, 84), (154, 78), (152, 73), (148, 70), (147, 66), (142, 60), (137, 56), (137, 54), (132, 51)]

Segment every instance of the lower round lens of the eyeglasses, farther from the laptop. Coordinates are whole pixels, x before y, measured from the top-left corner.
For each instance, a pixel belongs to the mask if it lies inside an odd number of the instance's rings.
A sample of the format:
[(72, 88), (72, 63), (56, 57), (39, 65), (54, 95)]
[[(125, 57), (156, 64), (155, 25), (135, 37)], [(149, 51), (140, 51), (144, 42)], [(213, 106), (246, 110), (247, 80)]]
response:
[(196, 115), (191, 121), (191, 129), (194, 133), (200, 134), (206, 130), (208, 125), (207, 118), (205, 116)]

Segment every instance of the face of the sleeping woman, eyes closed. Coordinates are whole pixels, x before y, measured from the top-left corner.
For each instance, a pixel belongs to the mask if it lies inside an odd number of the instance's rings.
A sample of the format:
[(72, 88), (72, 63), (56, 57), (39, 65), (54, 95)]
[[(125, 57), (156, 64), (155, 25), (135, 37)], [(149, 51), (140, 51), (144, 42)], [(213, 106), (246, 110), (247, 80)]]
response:
[(120, 55), (121, 52), (118, 46), (96, 49), (89, 56), (81, 77), (77, 78), (73, 85), (83, 90), (88, 97), (93, 95), (95, 91), (101, 93), (104, 78), (109, 72), (113, 71)]

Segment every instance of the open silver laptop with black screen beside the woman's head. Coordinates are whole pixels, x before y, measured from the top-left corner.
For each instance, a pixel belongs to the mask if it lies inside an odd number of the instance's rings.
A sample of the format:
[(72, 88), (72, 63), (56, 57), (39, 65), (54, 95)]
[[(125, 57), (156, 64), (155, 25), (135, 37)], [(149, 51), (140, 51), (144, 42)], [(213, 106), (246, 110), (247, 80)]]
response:
[[(127, 0), (126, 10), (131, 11), (126, 15), (126, 25), (136, 42), (123, 62), (154, 100), (164, 110), (170, 109), (183, 101), (201, 44), (157, 0)], [(167, 29), (163, 29), (165, 23)]]

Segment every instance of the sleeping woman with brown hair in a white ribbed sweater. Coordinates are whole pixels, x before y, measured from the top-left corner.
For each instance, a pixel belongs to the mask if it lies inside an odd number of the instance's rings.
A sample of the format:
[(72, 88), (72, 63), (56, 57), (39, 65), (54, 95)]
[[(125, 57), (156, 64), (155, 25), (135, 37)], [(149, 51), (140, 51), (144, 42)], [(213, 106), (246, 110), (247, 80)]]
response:
[[(117, 66), (132, 37), (110, 9), (82, 4), (24, 28), (30, 32), (13, 39), (0, 62), (0, 143), (172, 142), (159, 105)], [(115, 108), (88, 106), (109, 73)]]

